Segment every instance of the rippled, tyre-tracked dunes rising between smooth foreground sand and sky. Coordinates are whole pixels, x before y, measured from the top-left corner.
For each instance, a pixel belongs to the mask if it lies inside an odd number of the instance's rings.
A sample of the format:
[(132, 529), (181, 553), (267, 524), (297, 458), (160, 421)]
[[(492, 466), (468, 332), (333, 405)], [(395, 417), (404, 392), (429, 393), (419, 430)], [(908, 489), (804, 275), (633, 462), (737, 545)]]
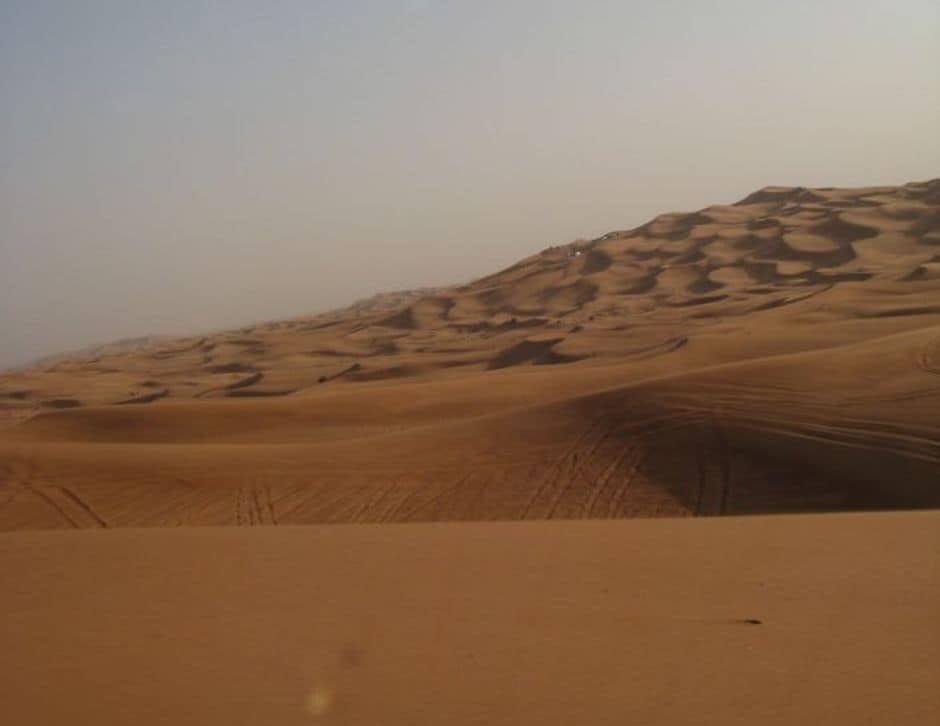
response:
[(935, 507), (938, 373), (940, 181), (768, 187), (3, 376), (0, 527)]

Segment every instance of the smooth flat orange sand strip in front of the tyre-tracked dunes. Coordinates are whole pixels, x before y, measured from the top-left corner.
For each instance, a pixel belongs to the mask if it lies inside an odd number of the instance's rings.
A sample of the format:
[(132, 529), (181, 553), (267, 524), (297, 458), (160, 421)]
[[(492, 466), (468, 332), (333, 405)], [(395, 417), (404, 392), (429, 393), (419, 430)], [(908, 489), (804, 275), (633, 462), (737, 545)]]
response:
[(940, 512), (19, 532), (0, 592), (18, 726), (940, 720)]

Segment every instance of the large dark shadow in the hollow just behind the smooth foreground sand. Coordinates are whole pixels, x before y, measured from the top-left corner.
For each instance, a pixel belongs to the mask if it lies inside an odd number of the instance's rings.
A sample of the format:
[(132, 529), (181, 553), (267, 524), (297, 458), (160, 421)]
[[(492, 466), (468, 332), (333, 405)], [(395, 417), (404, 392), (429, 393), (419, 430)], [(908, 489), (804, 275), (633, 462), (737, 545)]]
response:
[[(644, 405), (640, 398), (632, 403)], [(651, 410), (660, 409), (652, 405)], [(772, 409), (767, 413), (772, 418)], [(757, 409), (753, 419), (751, 415), (670, 430), (651, 449), (644, 469), (647, 478), (699, 516), (940, 505), (936, 463), (911, 455), (917, 446), (908, 450), (868, 445), (842, 456), (851, 438), (801, 436), (796, 421), (794, 428), (788, 425), (775, 433), (762, 425)]]

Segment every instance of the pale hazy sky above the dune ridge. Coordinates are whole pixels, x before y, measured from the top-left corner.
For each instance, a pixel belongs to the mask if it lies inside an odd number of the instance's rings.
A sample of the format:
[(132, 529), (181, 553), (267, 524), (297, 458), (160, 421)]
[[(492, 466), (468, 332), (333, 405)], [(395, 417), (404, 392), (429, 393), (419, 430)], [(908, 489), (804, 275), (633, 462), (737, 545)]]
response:
[(0, 0), (0, 366), (940, 176), (937, 0)]

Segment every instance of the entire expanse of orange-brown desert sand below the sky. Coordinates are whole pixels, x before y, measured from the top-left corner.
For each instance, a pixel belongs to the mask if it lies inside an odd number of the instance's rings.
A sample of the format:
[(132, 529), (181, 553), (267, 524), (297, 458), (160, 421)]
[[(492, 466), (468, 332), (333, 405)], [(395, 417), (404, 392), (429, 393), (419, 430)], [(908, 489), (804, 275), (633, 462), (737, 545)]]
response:
[(940, 180), (56, 356), (0, 416), (5, 723), (940, 721)]

